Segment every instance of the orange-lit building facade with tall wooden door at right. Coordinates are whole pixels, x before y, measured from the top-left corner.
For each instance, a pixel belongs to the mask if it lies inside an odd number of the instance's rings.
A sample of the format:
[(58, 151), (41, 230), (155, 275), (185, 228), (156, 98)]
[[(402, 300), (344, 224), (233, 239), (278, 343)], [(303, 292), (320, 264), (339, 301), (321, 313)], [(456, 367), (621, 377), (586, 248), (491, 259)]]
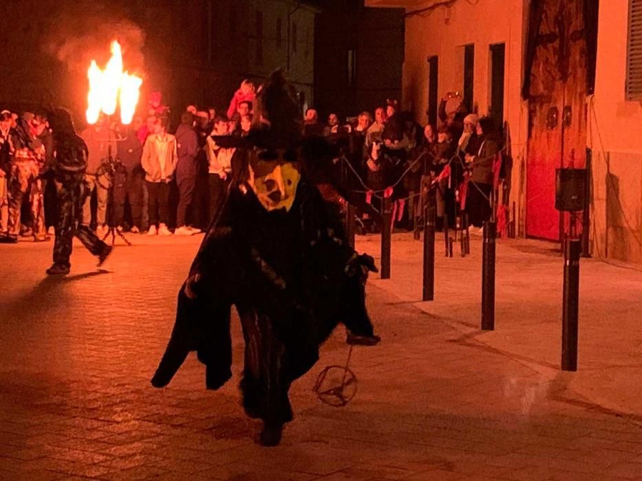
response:
[(642, 1), (597, 3), (366, 1), (405, 8), (405, 108), (435, 122), (459, 91), (506, 127), (520, 236), (559, 240), (569, 219), (555, 210), (555, 169), (588, 166), (591, 254), (642, 262)]

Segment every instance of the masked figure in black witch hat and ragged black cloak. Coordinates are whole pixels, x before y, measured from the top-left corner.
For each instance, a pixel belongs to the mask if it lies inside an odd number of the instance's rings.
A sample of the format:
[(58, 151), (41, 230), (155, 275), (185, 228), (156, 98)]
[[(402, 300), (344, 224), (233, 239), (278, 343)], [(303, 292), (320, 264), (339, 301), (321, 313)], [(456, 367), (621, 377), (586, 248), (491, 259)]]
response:
[(231, 306), (246, 343), (240, 388), (246, 414), (264, 421), (257, 442), (279, 444), (292, 421), (288, 390), (319, 359), (342, 322), (374, 342), (365, 307), (370, 256), (347, 242), (341, 217), (315, 185), (319, 159), (302, 144), (296, 96), (280, 71), (259, 91), (250, 135), (235, 144), (233, 179), (178, 295), (176, 322), (151, 381), (171, 381), (188, 353), (206, 388), (231, 378)]

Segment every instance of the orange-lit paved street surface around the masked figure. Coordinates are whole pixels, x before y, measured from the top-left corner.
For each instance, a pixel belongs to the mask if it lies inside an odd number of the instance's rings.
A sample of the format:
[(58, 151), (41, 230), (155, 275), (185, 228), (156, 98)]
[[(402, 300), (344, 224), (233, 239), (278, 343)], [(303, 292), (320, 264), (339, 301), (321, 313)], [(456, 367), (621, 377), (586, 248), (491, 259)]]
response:
[[(438, 257), (440, 282), (450, 276), (462, 283), (451, 283), (447, 296), (438, 289), (450, 304), (417, 303), (418, 244), (399, 236), (393, 279), (369, 287), (383, 342), (354, 350), (359, 390), (352, 403), (329, 407), (311, 391), (324, 366), (345, 363), (339, 329), (319, 364), (292, 387), (295, 421), (281, 446), (258, 447), (259, 425), (239, 406), (238, 377), (206, 392), (204, 370), (190, 357), (169, 388), (151, 388), (200, 238), (132, 240), (104, 269), (76, 248), (72, 275), (62, 279), (44, 274), (50, 243), (0, 246), (0, 480), (642, 479), (636, 405), (625, 412), (578, 394), (574, 374), (555, 366), (559, 337), (536, 339), (548, 326), (539, 322), (532, 331), (517, 321), (510, 331), (505, 322), (502, 331), (501, 302), (497, 331), (476, 331), (475, 256)], [(360, 246), (376, 249), (376, 241)], [(537, 317), (533, 304), (559, 304), (557, 291), (536, 293), (542, 269), (559, 262), (538, 248), (528, 252), (530, 268), (511, 267), (526, 276), (513, 286), (512, 309), (531, 305), (515, 319)], [(597, 284), (606, 267), (594, 265)], [(639, 290), (637, 298), (630, 294), (640, 276), (630, 276), (619, 286), (622, 309), (640, 304)], [(639, 319), (619, 339), (637, 339), (639, 347)], [(242, 337), (233, 324), (239, 361)], [(541, 348), (517, 352), (530, 345)], [(610, 348), (600, 347), (604, 356), (621, 355)], [(601, 370), (597, 358), (586, 361), (594, 374), (619, 374), (617, 366)], [(628, 379), (621, 403), (639, 399), (640, 379)]]

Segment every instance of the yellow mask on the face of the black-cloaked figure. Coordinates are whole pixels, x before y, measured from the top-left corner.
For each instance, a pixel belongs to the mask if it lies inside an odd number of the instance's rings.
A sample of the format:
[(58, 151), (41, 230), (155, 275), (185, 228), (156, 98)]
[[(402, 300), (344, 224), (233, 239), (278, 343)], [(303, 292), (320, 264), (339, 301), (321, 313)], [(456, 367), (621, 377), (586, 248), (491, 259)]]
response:
[(248, 184), (268, 211), (285, 209), (290, 212), (301, 179), (297, 163), (283, 159), (282, 154), (269, 160), (253, 156), (250, 161)]

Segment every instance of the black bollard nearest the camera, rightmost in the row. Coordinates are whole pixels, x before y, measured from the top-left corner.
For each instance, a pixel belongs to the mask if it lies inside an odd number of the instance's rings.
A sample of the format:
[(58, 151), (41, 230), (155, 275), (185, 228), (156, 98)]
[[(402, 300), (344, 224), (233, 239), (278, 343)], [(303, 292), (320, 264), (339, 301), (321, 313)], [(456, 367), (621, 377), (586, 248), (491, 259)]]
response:
[(577, 371), (577, 314), (581, 250), (581, 240), (566, 239), (564, 246), (564, 298), (561, 317), (561, 368), (565, 371)]

